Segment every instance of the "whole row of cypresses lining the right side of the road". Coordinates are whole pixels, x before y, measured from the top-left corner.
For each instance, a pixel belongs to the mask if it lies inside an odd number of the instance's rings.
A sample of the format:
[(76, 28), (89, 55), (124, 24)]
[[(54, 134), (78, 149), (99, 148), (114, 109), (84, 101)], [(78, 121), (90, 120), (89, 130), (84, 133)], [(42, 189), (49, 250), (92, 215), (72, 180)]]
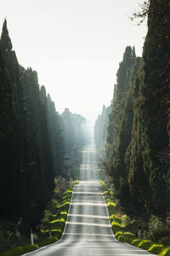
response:
[(105, 151), (104, 167), (122, 210), (165, 219), (170, 212), (170, 4), (150, 0), (145, 7), (143, 55), (125, 49), (111, 113), (99, 115), (94, 137)]

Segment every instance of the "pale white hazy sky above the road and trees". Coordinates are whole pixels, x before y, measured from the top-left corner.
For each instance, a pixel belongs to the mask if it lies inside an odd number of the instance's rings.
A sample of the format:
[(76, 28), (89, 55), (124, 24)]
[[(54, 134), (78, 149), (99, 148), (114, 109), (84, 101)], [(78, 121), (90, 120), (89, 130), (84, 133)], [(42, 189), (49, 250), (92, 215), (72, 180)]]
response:
[(146, 26), (129, 16), (142, 0), (5, 0), (0, 25), (20, 64), (37, 70), (61, 113), (97, 117), (110, 105), (127, 45), (141, 55)]

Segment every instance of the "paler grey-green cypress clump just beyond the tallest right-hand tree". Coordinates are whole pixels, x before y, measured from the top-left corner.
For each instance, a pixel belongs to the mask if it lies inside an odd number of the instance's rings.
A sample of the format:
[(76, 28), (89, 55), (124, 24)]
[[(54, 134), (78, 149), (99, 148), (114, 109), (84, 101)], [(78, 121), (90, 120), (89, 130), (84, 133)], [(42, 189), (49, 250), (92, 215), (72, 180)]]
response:
[(140, 61), (134, 48), (128, 46), (117, 72), (107, 131), (106, 170), (112, 177), (122, 210), (128, 214), (143, 212), (139, 201), (131, 196), (127, 182), (132, 150), (133, 80)]

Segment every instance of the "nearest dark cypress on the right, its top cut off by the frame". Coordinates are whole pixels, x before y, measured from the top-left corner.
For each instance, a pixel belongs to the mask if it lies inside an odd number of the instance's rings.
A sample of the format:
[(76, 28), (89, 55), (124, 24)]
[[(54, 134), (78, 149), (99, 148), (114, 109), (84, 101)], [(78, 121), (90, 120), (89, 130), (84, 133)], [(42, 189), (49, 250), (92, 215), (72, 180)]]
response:
[(134, 84), (134, 119), (129, 183), (133, 195), (149, 212), (169, 211), (169, 160), (167, 132), (170, 70), (170, 6), (150, 1), (148, 34), (143, 61)]

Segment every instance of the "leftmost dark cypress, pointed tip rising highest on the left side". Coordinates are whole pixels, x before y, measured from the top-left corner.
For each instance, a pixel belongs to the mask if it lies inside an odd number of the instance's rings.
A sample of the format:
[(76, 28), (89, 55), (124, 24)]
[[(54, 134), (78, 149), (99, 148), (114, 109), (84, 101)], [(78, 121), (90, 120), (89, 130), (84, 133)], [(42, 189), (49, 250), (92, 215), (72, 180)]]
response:
[[(14, 86), (20, 94), (18, 62), (13, 58), (12, 44), (8, 38), (6, 20), (3, 24), (3, 33), (0, 41), (2, 50), (0, 50), (0, 207), (1, 216), (10, 216), (20, 212), (21, 197), (21, 173), (20, 173), (20, 147), (22, 135), (20, 132), (18, 116), (19, 96), (14, 94)], [(7, 46), (5, 47), (5, 44)], [(6, 59), (5, 59), (6, 58)], [(13, 63), (9, 61), (13, 60)], [(14, 84), (11, 84), (10, 72), (13, 73)], [(18, 83), (17, 83), (18, 82)], [(14, 102), (14, 99), (16, 100)], [(17, 185), (18, 184), (18, 185)], [(8, 189), (8, 192), (7, 192)], [(16, 198), (19, 207), (16, 207)]]

